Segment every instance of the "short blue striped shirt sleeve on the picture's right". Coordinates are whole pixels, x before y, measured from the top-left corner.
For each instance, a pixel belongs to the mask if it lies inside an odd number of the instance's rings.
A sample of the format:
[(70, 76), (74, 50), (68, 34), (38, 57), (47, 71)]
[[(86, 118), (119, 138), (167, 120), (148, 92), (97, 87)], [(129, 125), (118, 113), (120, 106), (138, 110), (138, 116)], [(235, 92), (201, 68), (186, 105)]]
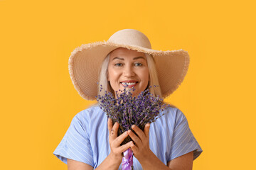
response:
[(171, 159), (192, 151), (193, 160), (195, 160), (201, 152), (203, 152), (188, 126), (186, 116), (179, 109), (177, 109), (176, 112), (174, 134), (171, 143), (171, 152), (168, 162), (171, 161)]

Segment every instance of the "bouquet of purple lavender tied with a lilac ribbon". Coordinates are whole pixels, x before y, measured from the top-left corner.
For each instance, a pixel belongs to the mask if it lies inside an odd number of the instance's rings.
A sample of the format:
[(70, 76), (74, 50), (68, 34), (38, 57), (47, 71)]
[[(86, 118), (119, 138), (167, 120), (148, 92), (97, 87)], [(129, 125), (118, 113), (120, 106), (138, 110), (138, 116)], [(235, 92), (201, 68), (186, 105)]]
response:
[[(149, 86), (149, 88), (152, 87)], [(159, 96), (155, 97), (153, 94), (150, 94), (149, 89), (142, 91), (137, 97), (132, 97), (131, 91), (134, 90), (134, 87), (132, 87), (131, 89), (125, 88), (123, 91), (119, 90), (119, 93), (115, 91), (116, 98), (114, 98), (111, 92), (107, 93), (107, 91), (105, 91), (103, 96), (96, 96), (100, 108), (107, 113), (107, 118), (111, 118), (113, 123), (119, 123), (118, 135), (129, 129), (132, 130), (132, 125), (137, 125), (141, 130), (144, 130), (146, 123), (155, 122), (164, 115), (164, 112), (160, 115), (160, 111), (164, 111), (164, 108), (169, 106), (163, 103), (163, 99)], [(100, 91), (102, 91), (102, 85), (100, 85)], [(134, 134), (136, 133), (134, 132)], [(131, 140), (132, 138), (128, 136), (121, 145)], [(123, 153), (123, 156), (126, 157), (129, 154), (130, 157), (127, 159), (130, 159), (132, 157), (131, 152), (131, 149), (128, 149)], [(124, 164), (125, 162), (128, 161), (123, 158), (123, 169), (127, 169), (124, 168), (124, 166), (127, 166)], [(128, 169), (132, 169), (132, 166)]]

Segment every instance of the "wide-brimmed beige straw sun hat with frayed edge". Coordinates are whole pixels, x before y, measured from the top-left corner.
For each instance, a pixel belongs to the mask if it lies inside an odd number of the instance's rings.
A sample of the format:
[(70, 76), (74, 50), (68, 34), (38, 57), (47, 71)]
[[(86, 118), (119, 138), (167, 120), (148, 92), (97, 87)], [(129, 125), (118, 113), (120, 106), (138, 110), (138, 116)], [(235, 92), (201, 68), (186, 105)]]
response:
[(164, 98), (178, 89), (188, 72), (189, 55), (185, 50), (152, 50), (149, 39), (139, 30), (119, 30), (107, 41), (84, 44), (71, 52), (68, 62), (70, 78), (82, 98), (96, 99), (102, 61), (109, 52), (118, 47), (137, 50), (154, 57)]

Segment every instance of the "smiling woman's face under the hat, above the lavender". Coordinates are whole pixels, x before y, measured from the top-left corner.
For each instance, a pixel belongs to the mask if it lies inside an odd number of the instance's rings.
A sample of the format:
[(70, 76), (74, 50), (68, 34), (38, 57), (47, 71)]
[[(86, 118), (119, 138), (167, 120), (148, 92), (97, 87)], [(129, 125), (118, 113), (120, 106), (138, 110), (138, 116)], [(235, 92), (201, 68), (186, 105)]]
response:
[(134, 87), (132, 96), (139, 95), (149, 84), (149, 67), (143, 52), (117, 48), (110, 53), (107, 80), (114, 91)]

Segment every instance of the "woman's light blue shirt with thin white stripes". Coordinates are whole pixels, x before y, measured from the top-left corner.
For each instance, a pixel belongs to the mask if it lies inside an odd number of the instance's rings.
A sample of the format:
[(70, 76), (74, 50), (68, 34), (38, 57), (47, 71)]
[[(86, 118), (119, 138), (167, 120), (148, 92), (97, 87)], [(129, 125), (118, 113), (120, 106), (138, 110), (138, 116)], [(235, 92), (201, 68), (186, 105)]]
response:
[[(188, 127), (186, 116), (178, 108), (172, 107), (166, 108), (164, 113), (150, 125), (151, 151), (164, 164), (192, 151), (193, 159), (196, 159), (203, 150)], [(53, 154), (65, 164), (68, 158), (89, 164), (95, 169), (110, 154), (108, 135), (106, 113), (99, 106), (92, 106), (74, 116)], [(142, 169), (136, 157), (134, 169)]]

